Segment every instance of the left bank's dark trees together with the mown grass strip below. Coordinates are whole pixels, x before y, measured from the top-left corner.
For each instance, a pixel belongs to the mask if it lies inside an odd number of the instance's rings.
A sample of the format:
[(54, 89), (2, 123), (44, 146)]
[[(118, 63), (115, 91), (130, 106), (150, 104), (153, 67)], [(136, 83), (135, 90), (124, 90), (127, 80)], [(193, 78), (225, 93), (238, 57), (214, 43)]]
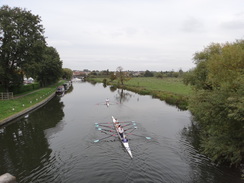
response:
[[(47, 45), (40, 22), (40, 16), (26, 9), (6, 5), (0, 8), (0, 92), (16, 96), (41, 88), (27, 96), (0, 101), (0, 120), (49, 96), (60, 78), (72, 77), (71, 70), (62, 69), (57, 50)], [(32, 77), (36, 83), (23, 86), (25, 77)]]

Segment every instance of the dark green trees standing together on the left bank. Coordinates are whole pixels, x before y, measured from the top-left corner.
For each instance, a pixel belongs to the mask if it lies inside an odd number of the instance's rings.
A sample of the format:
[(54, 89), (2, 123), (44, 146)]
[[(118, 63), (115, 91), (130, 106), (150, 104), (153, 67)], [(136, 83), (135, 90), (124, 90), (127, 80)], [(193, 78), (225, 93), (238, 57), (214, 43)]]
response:
[(48, 46), (41, 18), (18, 7), (0, 8), (0, 87), (8, 92), (32, 77), (46, 86), (62, 76), (62, 61)]

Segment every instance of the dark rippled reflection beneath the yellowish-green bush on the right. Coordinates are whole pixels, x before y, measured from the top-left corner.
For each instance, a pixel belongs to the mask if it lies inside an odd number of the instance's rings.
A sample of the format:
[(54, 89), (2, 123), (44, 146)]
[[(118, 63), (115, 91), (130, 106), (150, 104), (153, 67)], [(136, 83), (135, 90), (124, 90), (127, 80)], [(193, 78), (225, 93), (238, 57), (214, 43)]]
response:
[[(199, 128), (193, 119), (188, 127), (184, 127), (181, 130), (180, 142), (181, 153), (188, 154), (186, 161), (191, 166), (192, 171), (195, 172), (195, 174), (191, 176), (191, 180), (194, 182), (242, 182), (237, 169), (218, 166), (212, 163), (208, 157), (201, 154), (199, 146)], [(229, 175), (226, 174), (228, 170), (232, 171)], [(211, 174), (209, 172), (211, 172)]]

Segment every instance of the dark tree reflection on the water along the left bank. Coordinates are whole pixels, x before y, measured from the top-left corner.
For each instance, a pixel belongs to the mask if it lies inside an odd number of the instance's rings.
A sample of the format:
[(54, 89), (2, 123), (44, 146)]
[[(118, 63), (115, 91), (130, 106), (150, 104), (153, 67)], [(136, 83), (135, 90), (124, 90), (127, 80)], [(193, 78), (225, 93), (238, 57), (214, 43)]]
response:
[(63, 107), (60, 98), (55, 97), (27, 119), (18, 119), (15, 125), (1, 128), (0, 174), (9, 172), (21, 179), (28, 177), (33, 169), (44, 166), (42, 163), (52, 152), (44, 131), (62, 120)]

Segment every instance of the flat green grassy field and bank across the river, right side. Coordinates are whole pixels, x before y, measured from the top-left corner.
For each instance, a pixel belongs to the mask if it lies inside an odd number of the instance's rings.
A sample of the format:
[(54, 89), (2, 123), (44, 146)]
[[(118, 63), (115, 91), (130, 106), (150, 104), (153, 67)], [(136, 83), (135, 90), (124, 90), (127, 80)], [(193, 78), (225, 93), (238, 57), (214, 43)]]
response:
[(104, 82), (114, 85), (118, 88), (124, 88), (142, 95), (152, 95), (155, 98), (164, 100), (168, 104), (176, 105), (182, 110), (186, 110), (188, 106), (188, 98), (192, 89), (184, 85), (180, 78), (164, 78), (155, 77), (135, 77), (127, 81), (125, 85), (118, 85), (117, 81), (109, 82), (108, 78), (92, 78), (96, 82)]

